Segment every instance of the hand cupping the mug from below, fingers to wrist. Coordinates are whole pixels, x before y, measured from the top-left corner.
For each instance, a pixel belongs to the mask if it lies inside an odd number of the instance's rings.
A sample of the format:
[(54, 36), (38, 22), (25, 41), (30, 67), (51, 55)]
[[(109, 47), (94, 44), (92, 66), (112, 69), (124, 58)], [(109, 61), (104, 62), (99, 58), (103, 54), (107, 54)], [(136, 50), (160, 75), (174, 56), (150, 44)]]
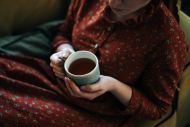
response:
[(93, 100), (114, 89), (114, 82), (114, 78), (101, 75), (98, 82), (78, 87), (72, 80), (65, 78), (66, 86), (72, 96), (88, 100)]

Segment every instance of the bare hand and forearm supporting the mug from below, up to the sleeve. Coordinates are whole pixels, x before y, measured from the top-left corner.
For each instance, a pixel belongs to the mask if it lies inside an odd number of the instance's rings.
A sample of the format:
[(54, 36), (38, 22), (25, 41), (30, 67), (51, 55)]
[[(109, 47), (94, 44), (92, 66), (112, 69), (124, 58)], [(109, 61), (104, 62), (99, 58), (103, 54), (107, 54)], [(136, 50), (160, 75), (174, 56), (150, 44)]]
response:
[(132, 88), (109, 76), (100, 76), (94, 84), (80, 88), (69, 78), (65, 77), (66, 86), (72, 96), (93, 100), (106, 92), (111, 92), (123, 105), (127, 106), (132, 96)]

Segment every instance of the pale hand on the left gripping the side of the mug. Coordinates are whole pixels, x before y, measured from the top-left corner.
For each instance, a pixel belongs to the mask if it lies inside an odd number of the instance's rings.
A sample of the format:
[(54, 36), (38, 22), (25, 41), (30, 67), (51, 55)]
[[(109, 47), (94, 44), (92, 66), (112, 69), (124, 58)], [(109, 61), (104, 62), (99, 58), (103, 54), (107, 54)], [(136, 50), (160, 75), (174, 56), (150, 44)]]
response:
[(74, 49), (69, 44), (60, 45), (57, 52), (50, 56), (50, 66), (53, 69), (55, 75), (61, 79), (64, 79), (64, 62), (67, 57), (74, 52)]

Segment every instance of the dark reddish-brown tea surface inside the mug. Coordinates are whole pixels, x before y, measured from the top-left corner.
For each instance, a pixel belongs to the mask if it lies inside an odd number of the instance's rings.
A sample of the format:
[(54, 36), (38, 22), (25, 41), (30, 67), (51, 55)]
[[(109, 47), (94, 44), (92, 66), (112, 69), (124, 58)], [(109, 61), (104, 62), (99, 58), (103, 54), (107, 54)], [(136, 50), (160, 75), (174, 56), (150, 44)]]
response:
[(94, 61), (87, 58), (81, 58), (71, 63), (69, 72), (75, 75), (84, 75), (92, 71), (95, 66), (96, 64)]

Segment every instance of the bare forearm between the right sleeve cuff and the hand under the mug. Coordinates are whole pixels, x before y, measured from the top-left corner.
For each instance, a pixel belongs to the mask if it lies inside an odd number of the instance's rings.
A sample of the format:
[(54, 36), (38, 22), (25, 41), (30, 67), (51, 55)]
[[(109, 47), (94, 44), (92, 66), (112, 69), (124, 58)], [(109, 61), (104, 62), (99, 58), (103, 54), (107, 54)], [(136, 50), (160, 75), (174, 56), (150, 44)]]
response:
[(132, 96), (132, 88), (118, 80), (115, 80), (111, 93), (117, 97), (123, 105), (127, 106)]

